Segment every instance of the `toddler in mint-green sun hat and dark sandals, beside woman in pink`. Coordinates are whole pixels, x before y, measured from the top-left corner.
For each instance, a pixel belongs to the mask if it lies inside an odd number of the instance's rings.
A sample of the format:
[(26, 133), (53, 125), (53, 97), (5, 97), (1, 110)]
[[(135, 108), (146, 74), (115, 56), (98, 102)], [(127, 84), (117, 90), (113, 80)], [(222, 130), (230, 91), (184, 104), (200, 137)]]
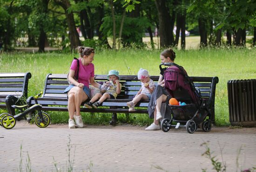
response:
[(117, 95), (121, 93), (122, 85), (119, 83), (119, 72), (116, 70), (109, 71), (107, 79), (108, 81), (101, 86), (101, 93), (103, 94), (96, 93), (89, 102), (84, 104), (85, 107), (97, 108), (106, 99), (116, 99)]

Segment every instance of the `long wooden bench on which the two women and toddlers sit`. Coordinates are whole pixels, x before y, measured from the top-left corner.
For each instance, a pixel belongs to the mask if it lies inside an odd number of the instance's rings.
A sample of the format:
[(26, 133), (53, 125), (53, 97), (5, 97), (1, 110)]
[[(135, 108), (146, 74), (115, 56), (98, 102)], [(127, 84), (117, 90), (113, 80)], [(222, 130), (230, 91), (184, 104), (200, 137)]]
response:
[[(97, 82), (107, 81), (107, 75), (95, 75)], [(107, 99), (97, 109), (81, 107), (81, 112), (104, 112), (112, 113), (111, 125), (115, 125), (117, 113), (148, 113), (148, 100), (137, 103), (134, 112), (128, 112), (127, 102), (131, 101), (134, 95), (140, 90), (141, 82), (135, 75), (120, 75), (122, 84), (121, 93), (116, 99)], [(150, 76), (157, 83), (159, 76)], [(217, 77), (191, 77), (195, 86), (200, 89), (202, 97), (211, 102), (211, 111), (214, 116), (214, 99)], [(47, 74), (43, 94), (38, 98), (38, 103), (42, 105), (44, 111), (64, 111), (67, 112), (67, 94), (64, 93), (68, 86), (67, 74)], [(32, 102), (33, 103), (33, 102)], [(83, 104), (82, 104), (83, 105)]]

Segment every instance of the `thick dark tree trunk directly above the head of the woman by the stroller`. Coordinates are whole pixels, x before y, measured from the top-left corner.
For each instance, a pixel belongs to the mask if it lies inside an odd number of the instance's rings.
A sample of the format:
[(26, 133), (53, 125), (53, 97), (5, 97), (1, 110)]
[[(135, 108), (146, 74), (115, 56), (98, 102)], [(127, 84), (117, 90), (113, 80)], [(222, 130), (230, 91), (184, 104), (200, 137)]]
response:
[(173, 36), (173, 23), (170, 17), (168, 7), (166, 6), (166, 1), (155, 0), (155, 5), (159, 18), (160, 46), (163, 48), (174, 46), (175, 42)]

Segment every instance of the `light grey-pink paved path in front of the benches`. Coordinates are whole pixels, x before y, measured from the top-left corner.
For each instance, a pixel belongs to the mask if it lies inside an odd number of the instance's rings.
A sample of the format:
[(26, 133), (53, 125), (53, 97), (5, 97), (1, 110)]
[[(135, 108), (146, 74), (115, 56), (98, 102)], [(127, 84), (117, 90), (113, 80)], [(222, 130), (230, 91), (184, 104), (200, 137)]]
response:
[(202, 172), (206, 168), (207, 172), (213, 172), (210, 160), (201, 155), (206, 149), (200, 145), (207, 141), (217, 159), (223, 156), (227, 172), (236, 172), (237, 157), (241, 165), (237, 171), (256, 167), (256, 128), (214, 127), (211, 132), (198, 129), (194, 134), (184, 128), (169, 132), (145, 131), (144, 128), (85, 126), (68, 129), (67, 125), (39, 128), (19, 121), (11, 130), (0, 127), (0, 171), (20, 171), (22, 145), (23, 171), (26, 171), (29, 155), (32, 171), (57, 171), (55, 160), (57, 169), (66, 172), (69, 135), (73, 171)]

